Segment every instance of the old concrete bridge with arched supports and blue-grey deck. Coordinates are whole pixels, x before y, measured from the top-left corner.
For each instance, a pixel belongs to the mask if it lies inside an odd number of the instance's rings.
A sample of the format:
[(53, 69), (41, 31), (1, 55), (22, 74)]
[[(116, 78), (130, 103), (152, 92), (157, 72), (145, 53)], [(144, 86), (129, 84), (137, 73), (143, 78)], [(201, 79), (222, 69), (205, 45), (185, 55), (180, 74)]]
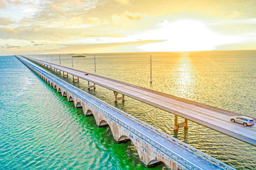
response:
[[(17, 57), (17, 56), (16, 56)], [(23, 57), (17, 57), (48, 85), (82, 107), (85, 116), (94, 116), (97, 126), (109, 126), (117, 143), (131, 140), (140, 161), (147, 167), (165, 163), (172, 170), (235, 170), (186, 143), (99, 100), (47, 73)]]

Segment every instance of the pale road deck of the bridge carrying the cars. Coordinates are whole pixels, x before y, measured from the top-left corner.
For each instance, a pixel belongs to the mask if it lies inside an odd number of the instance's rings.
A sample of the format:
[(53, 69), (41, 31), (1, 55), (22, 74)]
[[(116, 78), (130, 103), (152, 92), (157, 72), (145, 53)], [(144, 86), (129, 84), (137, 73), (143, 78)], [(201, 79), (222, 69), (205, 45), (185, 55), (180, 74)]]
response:
[[(232, 123), (230, 121), (231, 116), (240, 116), (241, 114), (178, 98), (95, 74), (89, 73), (89, 75), (85, 75), (86, 72), (60, 66), (57, 64), (52, 64), (29, 57), (25, 58), (43, 63), (48, 66), (51, 64), (51, 67), (53, 68), (124, 94), (133, 99), (139, 100), (146, 104), (152, 105), (159, 109), (165, 110), (192, 122), (198, 123), (205, 127), (211, 128), (256, 146), (256, 125), (244, 127), (241, 124)], [(254, 120), (256, 119), (254, 118)]]

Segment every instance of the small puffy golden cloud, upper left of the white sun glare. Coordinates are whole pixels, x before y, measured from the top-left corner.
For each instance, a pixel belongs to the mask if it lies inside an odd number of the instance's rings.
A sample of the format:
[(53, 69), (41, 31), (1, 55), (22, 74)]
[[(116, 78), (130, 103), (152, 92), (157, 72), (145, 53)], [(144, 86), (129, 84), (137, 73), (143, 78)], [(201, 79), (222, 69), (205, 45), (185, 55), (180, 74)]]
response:
[(128, 22), (128, 21), (140, 21), (142, 20), (144, 17), (142, 16), (142, 14), (139, 13), (131, 13), (128, 11), (125, 11), (124, 13), (121, 13), (120, 16), (114, 14), (112, 15), (112, 21), (115, 24), (118, 23), (124, 23), (124, 22)]

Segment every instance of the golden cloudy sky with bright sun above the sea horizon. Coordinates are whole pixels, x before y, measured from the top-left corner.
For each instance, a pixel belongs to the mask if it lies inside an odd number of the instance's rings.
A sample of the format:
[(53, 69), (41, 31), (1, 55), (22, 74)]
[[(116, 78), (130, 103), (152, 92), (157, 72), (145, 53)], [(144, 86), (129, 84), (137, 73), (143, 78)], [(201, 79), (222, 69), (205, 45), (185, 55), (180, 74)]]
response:
[(248, 49), (255, 0), (0, 0), (0, 55)]

